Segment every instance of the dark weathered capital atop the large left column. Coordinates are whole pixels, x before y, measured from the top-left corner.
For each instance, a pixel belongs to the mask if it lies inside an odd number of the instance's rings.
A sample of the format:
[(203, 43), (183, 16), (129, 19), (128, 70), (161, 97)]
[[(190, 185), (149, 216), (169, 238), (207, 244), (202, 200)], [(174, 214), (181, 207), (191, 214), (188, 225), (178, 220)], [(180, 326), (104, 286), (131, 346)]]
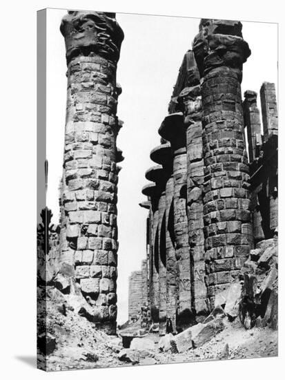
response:
[(119, 60), (124, 32), (115, 19), (115, 13), (68, 11), (60, 26), (66, 41), (67, 64), (78, 56), (100, 55)]

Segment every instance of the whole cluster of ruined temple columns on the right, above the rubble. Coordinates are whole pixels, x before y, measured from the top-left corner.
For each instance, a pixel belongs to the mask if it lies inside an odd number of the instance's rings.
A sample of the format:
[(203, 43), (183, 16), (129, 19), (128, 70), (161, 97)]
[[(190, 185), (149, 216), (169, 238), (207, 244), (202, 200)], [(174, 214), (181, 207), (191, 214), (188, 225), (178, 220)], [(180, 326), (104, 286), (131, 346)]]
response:
[(241, 93), (249, 56), (242, 23), (202, 19), (158, 129), (161, 144), (150, 152), (140, 299), (161, 335), (166, 321), (173, 332), (204, 321), (250, 249), (277, 233), (275, 85), (262, 84), (260, 117), (257, 93)]

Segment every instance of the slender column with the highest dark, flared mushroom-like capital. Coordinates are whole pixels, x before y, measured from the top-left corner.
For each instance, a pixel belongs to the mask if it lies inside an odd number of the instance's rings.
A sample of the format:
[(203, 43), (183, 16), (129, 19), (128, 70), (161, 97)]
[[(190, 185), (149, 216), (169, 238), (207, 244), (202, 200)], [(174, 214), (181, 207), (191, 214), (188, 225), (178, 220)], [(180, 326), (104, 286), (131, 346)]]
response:
[(176, 322), (181, 329), (193, 322), (186, 199), (181, 193), (187, 182), (186, 128), (183, 119), (182, 113), (172, 113), (165, 117), (159, 128), (159, 135), (168, 140), (173, 149), (173, 206), (178, 278)]

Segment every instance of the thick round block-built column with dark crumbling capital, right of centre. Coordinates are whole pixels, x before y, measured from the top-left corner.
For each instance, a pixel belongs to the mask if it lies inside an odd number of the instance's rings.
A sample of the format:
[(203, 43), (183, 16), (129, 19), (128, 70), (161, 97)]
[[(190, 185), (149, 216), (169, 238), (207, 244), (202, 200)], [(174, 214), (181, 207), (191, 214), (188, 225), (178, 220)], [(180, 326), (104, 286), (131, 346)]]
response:
[(225, 289), (253, 247), (242, 64), (250, 55), (239, 21), (202, 19), (193, 43), (202, 80), (204, 234), (208, 298)]

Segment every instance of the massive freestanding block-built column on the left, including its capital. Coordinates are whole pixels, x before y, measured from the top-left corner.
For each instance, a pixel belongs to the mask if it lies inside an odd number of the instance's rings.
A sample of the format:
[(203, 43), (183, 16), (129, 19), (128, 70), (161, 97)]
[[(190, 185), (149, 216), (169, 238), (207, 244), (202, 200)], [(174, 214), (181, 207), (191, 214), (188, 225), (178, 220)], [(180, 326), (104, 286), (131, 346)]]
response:
[(63, 158), (61, 259), (92, 306), (92, 321), (115, 334), (117, 319), (117, 61), (124, 33), (115, 14), (63, 17), (68, 99)]

